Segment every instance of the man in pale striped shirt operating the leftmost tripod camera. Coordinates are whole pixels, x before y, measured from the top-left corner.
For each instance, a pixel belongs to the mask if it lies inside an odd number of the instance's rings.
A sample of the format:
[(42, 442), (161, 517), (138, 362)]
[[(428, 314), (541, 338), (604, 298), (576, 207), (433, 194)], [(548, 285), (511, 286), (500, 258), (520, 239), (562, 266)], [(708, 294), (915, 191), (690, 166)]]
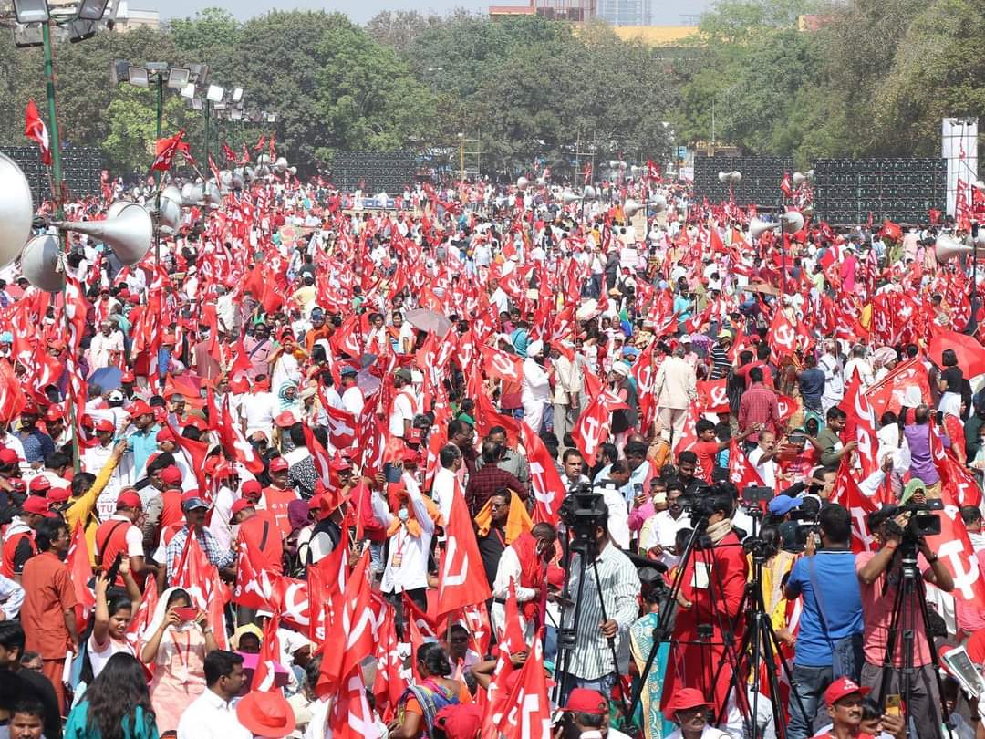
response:
[[(629, 669), (629, 627), (639, 615), (639, 575), (636, 568), (609, 538), (609, 514), (600, 500), (595, 507), (594, 560), (581, 568), (581, 554), (571, 558), (569, 591), (578, 592), (578, 580), (584, 574), (581, 600), (565, 609), (564, 626), (573, 628), (575, 613), (578, 630), (575, 646), (570, 650), (567, 674), (561, 675), (564, 694), (560, 704), (574, 688), (591, 688), (608, 696), (620, 675)], [(741, 550), (740, 550), (741, 552)], [(572, 597), (574, 597), (572, 595)], [(605, 618), (602, 602), (605, 602)], [(608, 639), (615, 638), (619, 663), (613, 664), (613, 650)]]

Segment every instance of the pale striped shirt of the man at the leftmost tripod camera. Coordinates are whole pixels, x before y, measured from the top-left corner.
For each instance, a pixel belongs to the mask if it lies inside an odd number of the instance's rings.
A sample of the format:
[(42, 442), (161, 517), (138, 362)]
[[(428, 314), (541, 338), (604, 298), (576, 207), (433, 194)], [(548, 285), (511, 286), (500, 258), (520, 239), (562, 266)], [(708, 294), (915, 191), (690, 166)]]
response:
[[(571, 561), (571, 580), (569, 584), (572, 597), (578, 593), (578, 579), (581, 571), (581, 555), (574, 555)], [(629, 669), (629, 627), (639, 616), (639, 575), (636, 568), (614, 544), (602, 550), (596, 560), (599, 582), (595, 579), (592, 563), (585, 566), (585, 584), (581, 592), (581, 614), (578, 618), (578, 632), (575, 635), (577, 646), (571, 652), (568, 673), (582, 680), (598, 680), (605, 675), (626, 674)], [(599, 586), (601, 584), (601, 587)], [(616, 635), (616, 654), (619, 665), (613, 666), (613, 653), (609, 641), (602, 636), (599, 625), (602, 607), (599, 603), (601, 590), (606, 606), (606, 617), (619, 624)], [(568, 609), (564, 625), (570, 628), (574, 622), (574, 609)]]

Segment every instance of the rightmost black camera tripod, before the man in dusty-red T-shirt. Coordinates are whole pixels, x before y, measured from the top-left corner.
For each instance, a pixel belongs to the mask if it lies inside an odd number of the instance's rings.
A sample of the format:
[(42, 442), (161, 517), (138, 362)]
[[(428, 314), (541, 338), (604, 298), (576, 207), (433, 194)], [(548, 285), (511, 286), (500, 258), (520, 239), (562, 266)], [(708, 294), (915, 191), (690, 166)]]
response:
[[(917, 613), (923, 619), (923, 629), (927, 644), (929, 646), (931, 663), (934, 665), (934, 679), (937, 681), (938, 704), (944, 725), (948, 729), (948, 735), (954, 736), (951, 715), (948, 707), (941, 701), (944, 695), (944, 686), (941, 682), (941, 660), (938, 657), (937, 649), (934, 648), (934, 637), (930, 631), (929, 608), (927, 606), (927, 588), (924, 585), (923, 574), (917, 567), (917, 543), (915, 540), (908, 540), (904, 534), (903, 543), (900, 546), (902, 560), (900, 562), (900, 578), (896, 584), (896, 594), (892, 604), (892, 616), (889, 620), (889, 630), (886, 637), (886, 654), (883, 657), (883, 671), (880, 680), (879, 705), (886, 705), (888, 695), (889, 680), (892, 673), (896, 671), (893, 656), (896, 652), (896, 639), (902, 636), (902, 649), (900, 653), (902, 667), (899, 668), (899, 687), (900, 697), (903, 701), (903, 725), (906, 729), (906, 736), (912, 736), (910, 731), (910, 714), (913, 709), (913, 676), (916, 668), (913, 666), (913, 657), (916, 651), (916, 630), (920, 628), (917, 622)], [(892, 568), (890, 562), (889, 568)], [(888, 569), (886, 577), (889, 576)], [(919, 610), (918, 610), (919, 609)], [(921, 737), (924, 739), (924, 737)]]

